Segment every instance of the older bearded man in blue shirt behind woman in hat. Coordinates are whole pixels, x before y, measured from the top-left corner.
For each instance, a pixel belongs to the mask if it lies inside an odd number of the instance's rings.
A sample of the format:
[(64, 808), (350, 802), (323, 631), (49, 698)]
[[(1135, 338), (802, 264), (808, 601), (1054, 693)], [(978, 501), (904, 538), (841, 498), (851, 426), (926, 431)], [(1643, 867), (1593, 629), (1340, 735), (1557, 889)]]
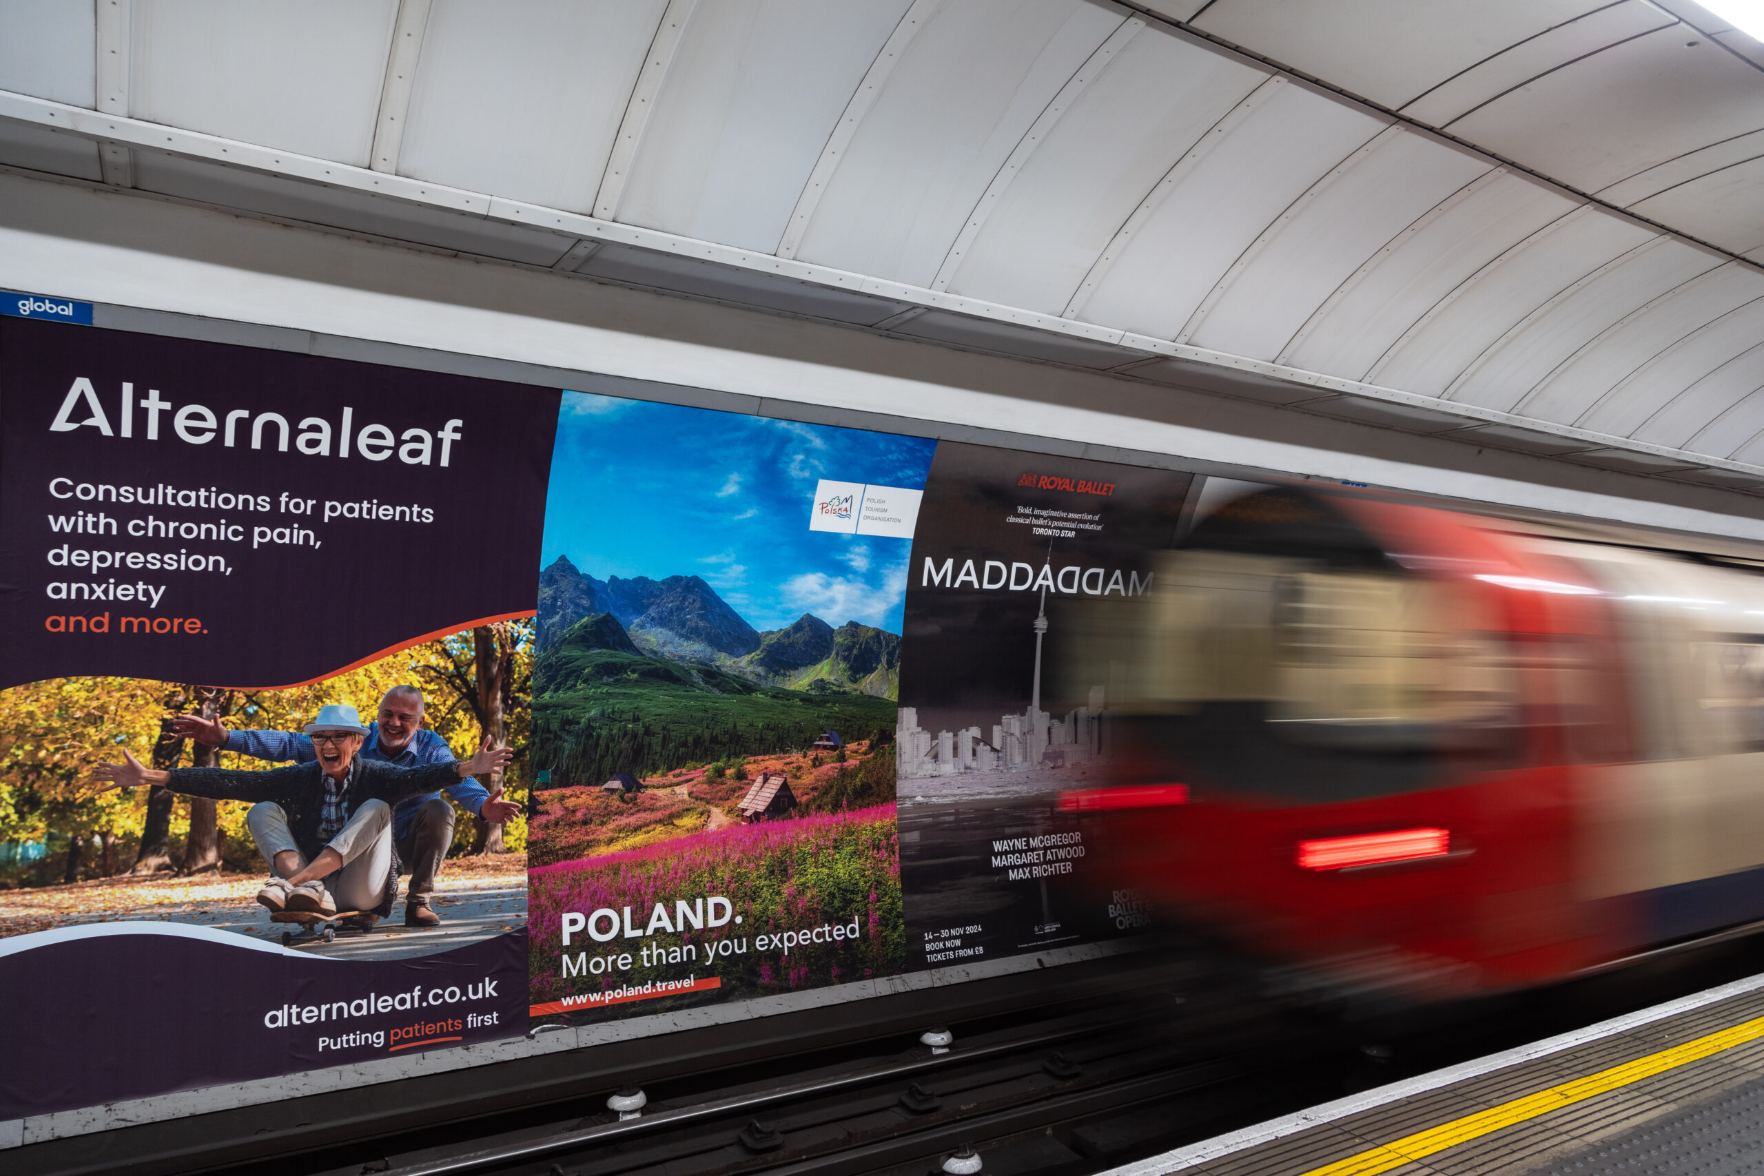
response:
[[(298, 732), (229, 732), (220, 723), (210, 723), (194, 714), (178, 716), (173, 721), (173, 730), (199, 744), (236, 751), (254, 760), (310, 763), (318, 758), (312, 741)], [(369, 725), (367, 739), (356, 755), (362, 760), (383, 760), (399, 767), (453, 762), (453, 749), (446, 746), (446, 741), (423, 728), (423, 691), (415, 686), (393, 686), (386, 691), (386, 696), (379, 700), (379, 714)], [(503, 800), (501, 785), (496, 785), (492, 795), (471, 776), (445, 788), (445, 792), (462, 809), (492, 825), (501, 825), (520, 811), (519, 804)], [(453, 845), (453, 806), (441, 799), (441, 792), (400, 800), (392, 811), (392, 839), (399, 850), (400, 873), (409, 869), (411, 875), (404, 926), (439, 926), (441, 917), (429, 906), (429, 899), (434, 894), (441, 862), (446, 860), (446, 852)]]

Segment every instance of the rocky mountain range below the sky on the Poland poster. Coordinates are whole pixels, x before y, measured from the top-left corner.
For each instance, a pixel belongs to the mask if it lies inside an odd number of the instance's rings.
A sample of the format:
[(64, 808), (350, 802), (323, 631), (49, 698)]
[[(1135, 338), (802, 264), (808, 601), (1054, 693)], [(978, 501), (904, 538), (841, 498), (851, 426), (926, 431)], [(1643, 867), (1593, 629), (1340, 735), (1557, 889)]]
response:
[(714, 666), (766, 686), (898, 696), (900, 635), (856, 621), (833, 628), (811, 614), (762, 633), (699, 577), (596, 580), (559, 555), (540, 573), (538, 603), (540, 656), (593, 619), (572, 644)]

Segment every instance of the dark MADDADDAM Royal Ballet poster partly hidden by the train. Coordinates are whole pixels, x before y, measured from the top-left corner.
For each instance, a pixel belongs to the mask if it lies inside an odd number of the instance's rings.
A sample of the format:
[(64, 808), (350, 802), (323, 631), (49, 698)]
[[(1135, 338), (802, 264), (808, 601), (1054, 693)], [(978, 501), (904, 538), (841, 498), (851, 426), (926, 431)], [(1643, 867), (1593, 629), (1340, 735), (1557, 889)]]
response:
[[(944, 443), (907, 577), (900, 841), (908, 966), (1113, 938), (1143, 903), (1090, 855), (1111, 682), (1074, 649), (1132, 607), (1189, 474)], [(1062, 804), (1062, 797), (1067, 799)]]

